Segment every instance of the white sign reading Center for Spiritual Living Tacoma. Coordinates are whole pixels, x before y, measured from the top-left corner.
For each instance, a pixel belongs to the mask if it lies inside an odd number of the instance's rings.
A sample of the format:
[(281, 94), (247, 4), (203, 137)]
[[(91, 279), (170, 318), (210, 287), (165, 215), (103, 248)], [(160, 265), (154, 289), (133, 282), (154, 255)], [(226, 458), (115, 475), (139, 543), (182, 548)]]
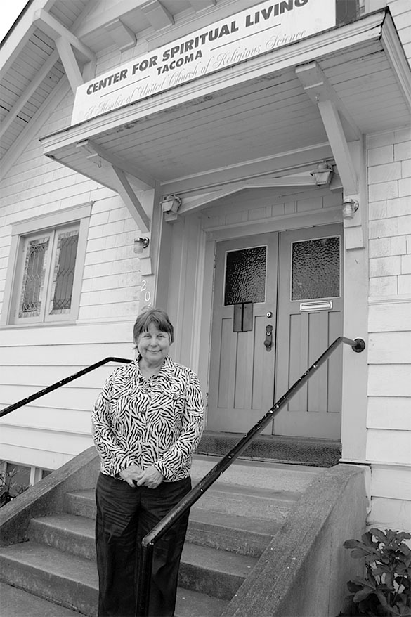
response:
[(136, 103), (333, 27), (335, 2), (262, 2), (77, 88), (72, 124)]

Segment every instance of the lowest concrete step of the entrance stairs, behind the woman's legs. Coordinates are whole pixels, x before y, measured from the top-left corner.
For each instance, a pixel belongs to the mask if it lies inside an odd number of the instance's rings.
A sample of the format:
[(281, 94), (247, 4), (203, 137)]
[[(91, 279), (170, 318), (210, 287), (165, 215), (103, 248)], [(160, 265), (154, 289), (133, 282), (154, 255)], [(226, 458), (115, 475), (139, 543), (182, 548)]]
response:
[[(89, 559), (27, 542), (0, 549), (0, 576), (5, 581), (0, 617), (96, 616), (98, 580)], [(178, 587), (176, 617), (218, 617), (227, 604), (227, 599)]]

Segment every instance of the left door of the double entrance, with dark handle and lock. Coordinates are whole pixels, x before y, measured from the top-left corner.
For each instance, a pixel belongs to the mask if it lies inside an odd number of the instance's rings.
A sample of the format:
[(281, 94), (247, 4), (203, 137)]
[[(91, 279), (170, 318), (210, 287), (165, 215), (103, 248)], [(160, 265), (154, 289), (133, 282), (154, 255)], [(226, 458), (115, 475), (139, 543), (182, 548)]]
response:
[[(259, 260), (255, 279), (253, 263), (251, 268), (244, 263), (248, 249), (253, 247), (266, 247), (264, 264), (261, 252), (251, 254), (252, 259), (256, 256)], [(234, 252), (238, 254), (233, 255)], [(268, 324), (273, 326), (275, 334), (277, 270), (277, 233), (218, 242), (211, 330), (209, 430), (248, 431), (273, 405), (275, 349), (273, 346), (267, 351), (264, 339)], [(230, 273), (234, 274), (233, 280)], [(234, 332), (234, 305), (229, 303), (248, 302), (249, 293), (252, 298), (262, 300), (253, 302), (252, 330)], [(268, 318), (267, 313), (272, 316)], [(271, 433), (272, 428), (268, 427), (267, 431)]]

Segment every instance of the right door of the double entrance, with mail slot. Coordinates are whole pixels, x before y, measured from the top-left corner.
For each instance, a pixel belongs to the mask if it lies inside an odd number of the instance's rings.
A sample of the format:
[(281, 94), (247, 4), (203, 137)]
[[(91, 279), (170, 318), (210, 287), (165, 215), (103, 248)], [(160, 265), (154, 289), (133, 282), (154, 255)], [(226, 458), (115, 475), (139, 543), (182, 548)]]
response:
[[(296, 243), (300, 272), (293, 267)], [(339, 225), (281, 234), (277, 399), (342, 334), (341, 264)], [(275, 434), (339, 439), (341, 372), (339, 349), (280, 412)]]

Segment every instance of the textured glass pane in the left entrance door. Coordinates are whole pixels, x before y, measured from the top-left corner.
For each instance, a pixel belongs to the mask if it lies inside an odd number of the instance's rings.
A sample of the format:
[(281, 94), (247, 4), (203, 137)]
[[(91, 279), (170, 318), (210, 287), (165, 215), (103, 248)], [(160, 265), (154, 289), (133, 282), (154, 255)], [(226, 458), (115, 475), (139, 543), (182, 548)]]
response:
[(227, 252), (224, 306), (266, 301), (266, 262), (266, 246)]

